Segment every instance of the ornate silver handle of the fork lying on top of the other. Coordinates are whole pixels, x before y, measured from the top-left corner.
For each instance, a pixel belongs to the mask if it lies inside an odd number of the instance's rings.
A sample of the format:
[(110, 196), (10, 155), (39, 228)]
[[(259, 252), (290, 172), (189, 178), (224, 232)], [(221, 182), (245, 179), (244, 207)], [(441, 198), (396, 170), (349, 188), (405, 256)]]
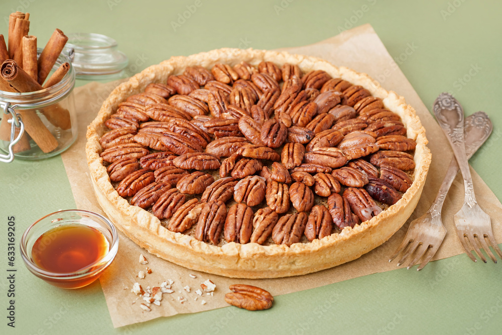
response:
[(441, 93), (436, 102), (434, 104), (434, 114), (439, 125), (447, 135), (446, 137), (450, 142), (457, 159), (457, 164), (462, 172), (465, 191), (464, 203), (467, 203), (472, 208), (477, 202), (465, 152), (464, 111), (462, 106), (449, 93)]

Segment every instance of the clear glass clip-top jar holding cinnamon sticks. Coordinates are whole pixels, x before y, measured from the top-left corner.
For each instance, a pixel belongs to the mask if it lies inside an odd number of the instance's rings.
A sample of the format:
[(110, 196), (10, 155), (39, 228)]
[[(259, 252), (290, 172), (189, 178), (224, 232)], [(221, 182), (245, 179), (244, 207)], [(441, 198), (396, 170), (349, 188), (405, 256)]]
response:
[[(42, 49), (39, 48), (38, 56), (41, 52)], [(53, 71), (65, 62), (70, 63), (70, 69), (60, 82), (51, 87), (26, 93), (0, 90), (0, 101), (10, 102), (25, 124), (25, 134), (14, 146), (16, 158), (36, 160), (52, 157), (68, 149), (77, 139), (77, 117), (73, 97), (75, 70), (68, 56), (61, 53)], [(11, 137), (11, 124), (8, 123), (10, 116), (4, 114), (3, 110), (0, 113), (0, 151), (8, 153)]]

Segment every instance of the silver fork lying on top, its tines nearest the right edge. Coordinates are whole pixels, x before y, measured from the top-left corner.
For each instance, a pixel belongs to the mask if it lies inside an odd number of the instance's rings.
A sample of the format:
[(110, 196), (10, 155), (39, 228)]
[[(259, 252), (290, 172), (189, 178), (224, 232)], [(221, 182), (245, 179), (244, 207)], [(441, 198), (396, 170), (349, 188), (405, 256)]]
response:
[(476, 258), (471, 253), (471, 250), (474, 250), (479, 258), (486, 263), (486, 259), (480, 250), (484, 249), (489, 258), (496, 263), (497, 260), (489, 247), (491, 246), (500, 258), (502, 258), (502, 251), (500, 251), (493, 238), (490, 217), (479, 207), (474, 196), (469, 163), (465, 153), (464, 111), (462, 106), (451, 94), (441, 93), (434, 101), (434, 114), (450, 142), (464, 180), (464, 203), (454, 216), (460, 244), (472, 261), (476, 262)]

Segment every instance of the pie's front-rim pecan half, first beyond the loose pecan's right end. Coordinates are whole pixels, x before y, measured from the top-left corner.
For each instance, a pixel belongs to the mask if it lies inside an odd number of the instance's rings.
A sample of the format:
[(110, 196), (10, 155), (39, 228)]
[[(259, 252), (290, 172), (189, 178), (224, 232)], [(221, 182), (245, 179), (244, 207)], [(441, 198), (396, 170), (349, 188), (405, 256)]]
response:
[(308, 215), (305, 212), (295, 214), (285, 214), (279, 218), (277, 225), (272, 230), (272, 241), (276, 244), (291, 246), (300, 242), (305, 226), (307, 225)]

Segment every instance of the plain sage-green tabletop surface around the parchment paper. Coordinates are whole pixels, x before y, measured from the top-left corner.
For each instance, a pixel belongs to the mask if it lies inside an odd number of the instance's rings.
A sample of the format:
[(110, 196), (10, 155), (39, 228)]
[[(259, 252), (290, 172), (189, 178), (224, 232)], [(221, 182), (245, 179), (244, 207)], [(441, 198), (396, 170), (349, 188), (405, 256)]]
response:
[[(497, 197), (502, 196), (498, 171), (502, 136), (500, 2), (201, 0), (201, 6), (175, 31), (171, 22), (195, 3), (3, 1), (0, 33), (7, 35), (9, 14), (20, 10), (31, 13), (30, 34), (38, 37), (39, 45), (45, 45), (55, 28), (108, 35), (128, 55), (126, 72), (132, 75), (174, 55), (221, 47), (301, 46), (370, 23), (393, 57), (399, 57), (409, 45), (416, 47), (398, 64), (426, 106), (430, 108), (440, 92), (450, 91), (466, 114), (483, 110), (489, 115), (493, 134), (486, 149), (470, 163)], [(363, 5), (369, 8), (367, 12), (361, 11)], [(472, 67), (477, 70), (469, 74)], [(114, 329), (99, 282), (73, 291), (52, 287), (29, 274), (18, 254), (14, 329), (6, 325), (7, 216), (16, 217), (19, 241), (37, 218), (75, 204), (60, 157), (1, 164), (0, 175), (2, 334), (497, 334), (502, 328), (501, 265), (475, 264), (465, 255), (433, 262), (421, 272), (399, 269), (278, 296), (268, 311), (229, 307)]]

